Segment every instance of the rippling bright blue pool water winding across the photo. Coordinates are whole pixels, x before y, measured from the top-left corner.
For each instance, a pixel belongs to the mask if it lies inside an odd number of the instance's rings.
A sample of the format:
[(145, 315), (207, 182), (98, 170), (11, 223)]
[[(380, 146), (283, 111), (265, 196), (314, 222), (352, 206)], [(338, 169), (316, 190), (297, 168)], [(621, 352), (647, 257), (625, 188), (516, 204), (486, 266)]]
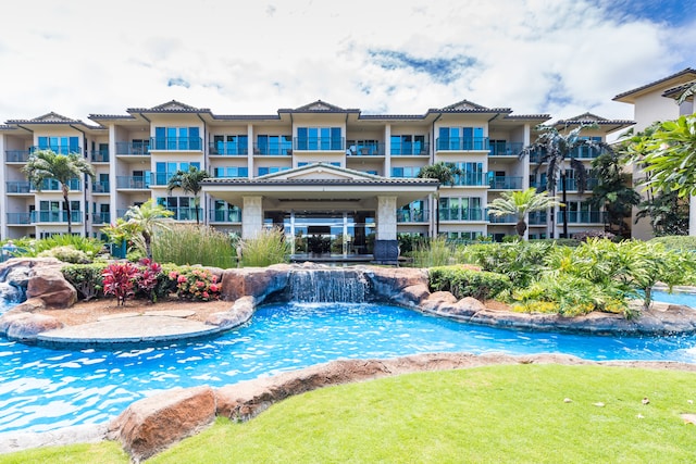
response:
[(340, 358), (435, 351), (696, 363), (696, 337), (524, 333), (394, 306), (302, 303), (260, 308), (249, 323), (220, 338), (170, 347), (70, 352), (0, 339), (0, 431), (103, 423), (133, 401), (174, 387), (221, 387)]

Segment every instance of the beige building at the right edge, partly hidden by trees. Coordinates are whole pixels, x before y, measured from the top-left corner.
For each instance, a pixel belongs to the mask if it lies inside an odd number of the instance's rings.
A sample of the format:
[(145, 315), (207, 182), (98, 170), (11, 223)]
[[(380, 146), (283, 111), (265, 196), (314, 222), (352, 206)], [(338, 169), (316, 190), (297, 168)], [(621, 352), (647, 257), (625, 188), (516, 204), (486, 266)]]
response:
[[(682, 95), (688, 85), (696, 83), (696, 70), (687, 67), (679, 73), (663, 77), (650, 84), (646, 84), (633, 90), (619, 93), (614, 101), (633, 105), (633, 118), (635, 120), (635, 130), (644, 130), (658, 121), (676, 120), (684, 114), (693, 114), (694, 98), (678, 105), (675, 100)], [(645, 177), (639, 168), (634, 167), (633, 179), (635, 184), (641, 184)], [(639, 190), (639, 189), (638, 189)], [(696, 204), (692, 198), (689, 204)], [(635, 223), (636, 209), (633, 210), (632, 236), (642, 240), (652, 238), (652, 228), (647, 218)], [(696, 235), (696, 209), (689, 209), (689, 235)]]

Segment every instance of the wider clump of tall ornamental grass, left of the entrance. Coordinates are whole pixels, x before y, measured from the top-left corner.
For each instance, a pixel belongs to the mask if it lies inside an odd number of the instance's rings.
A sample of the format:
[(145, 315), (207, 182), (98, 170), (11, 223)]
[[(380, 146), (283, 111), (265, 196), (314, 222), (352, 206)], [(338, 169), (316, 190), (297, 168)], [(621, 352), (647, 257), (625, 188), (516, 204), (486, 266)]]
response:
[(227, 234), (208, 226), (178, 224), (171, 229), (160, 229), (152, 240), (152, 256), (158, 263), (174, 263), (181, 266), (237, 266), (232, 239)]

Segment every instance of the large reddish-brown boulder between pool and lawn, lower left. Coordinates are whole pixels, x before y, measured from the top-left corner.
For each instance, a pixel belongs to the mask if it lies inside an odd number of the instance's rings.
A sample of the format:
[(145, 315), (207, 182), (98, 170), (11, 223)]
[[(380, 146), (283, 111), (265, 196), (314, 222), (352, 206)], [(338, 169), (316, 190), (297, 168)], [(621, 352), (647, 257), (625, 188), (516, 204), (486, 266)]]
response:
[(208, 386), (171, 390), (130, 404), (109, 425), (135, 462), (197, 434), (215, 418), (215, 394)]

